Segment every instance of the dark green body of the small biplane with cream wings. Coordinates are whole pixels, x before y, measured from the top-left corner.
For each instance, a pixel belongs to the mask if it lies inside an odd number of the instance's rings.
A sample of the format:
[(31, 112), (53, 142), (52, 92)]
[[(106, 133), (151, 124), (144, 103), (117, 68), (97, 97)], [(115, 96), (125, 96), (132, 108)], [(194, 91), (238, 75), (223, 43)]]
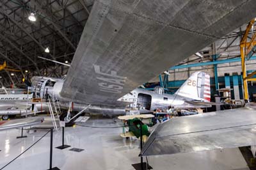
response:
[(137, 138), (140, 137), (140, 124), (142, 126), (142, 135), (150, 135), (150, 132), (148, 131), (148, 126), (142, 123), (142, 121), (138, 118), (128, 120), (127, 124), (129, 126), (129, 132), (132, 132), (134, 135), (136, 135)]

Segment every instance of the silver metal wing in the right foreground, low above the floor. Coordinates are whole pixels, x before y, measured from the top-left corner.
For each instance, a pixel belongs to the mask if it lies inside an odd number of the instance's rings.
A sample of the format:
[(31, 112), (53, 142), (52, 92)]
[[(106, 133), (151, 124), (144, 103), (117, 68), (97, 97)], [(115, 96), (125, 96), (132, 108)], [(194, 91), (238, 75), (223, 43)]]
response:
[(246, 107), (173, 118), (150, 134), (141, 154), (166, 155), (256, 144), (256, 110)]

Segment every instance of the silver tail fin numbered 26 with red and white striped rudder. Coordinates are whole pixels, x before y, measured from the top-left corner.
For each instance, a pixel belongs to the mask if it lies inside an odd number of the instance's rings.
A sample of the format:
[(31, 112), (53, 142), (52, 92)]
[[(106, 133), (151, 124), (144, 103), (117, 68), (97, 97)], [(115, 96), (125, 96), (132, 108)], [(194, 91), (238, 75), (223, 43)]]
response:
[(193, 73), (189, 79), (182, 84), (175, 95), (210, 102), (210, 75), (204, 72)]

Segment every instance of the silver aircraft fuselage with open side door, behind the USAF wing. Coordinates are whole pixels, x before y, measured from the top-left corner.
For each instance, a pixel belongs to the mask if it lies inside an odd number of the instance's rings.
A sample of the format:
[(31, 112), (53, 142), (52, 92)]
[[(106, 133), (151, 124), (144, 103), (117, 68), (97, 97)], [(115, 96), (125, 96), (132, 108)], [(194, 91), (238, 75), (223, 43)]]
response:
[[(35, 81), (36, 80), (36, 81)], [(40, 81), (40, 86), (38, 86), (38, 81)], [(37, 83), (35, 83), (37, 82)], [(61, 109), (68, 109), (69, 103), (72, 102), (70, 98), (63, 98), (60, 95), (61, 89), (63, 87), (63, 79), (52, 79), (50, 77), (38, 77), (34, 79), (37, 97), (45, 98), (46, 94), (58, 98)], [(169, 94), (158, 94), (154, 91), (148, 91), (147, 89), (136, 88), (124, 97), (119, 98), (121, 102), (127, 102), (126, 107), (116, 108), (109, 107), (106, 105), (93, 105), (86, 109), (85, 112), (95, 113), (95, 114), (108, 114), (108, 115), (118, 115), (125, 114), (127, 108), (129, 109), (143, 109), (144, 111), (155, 111), (156, 109), (170, 109), (173, 107), (175, 109), (188, 109), (188, 108), (199, 108), (198, 105), (187, 104), (185, 101), (192, 100), (191, 98), (180, 97), (179, 95), (169, 95)], [(81, 111), (88, 104), (74, 103), (72, 105), (74, 111)], [(202, 106), (204, 107), (204, 106)]]

